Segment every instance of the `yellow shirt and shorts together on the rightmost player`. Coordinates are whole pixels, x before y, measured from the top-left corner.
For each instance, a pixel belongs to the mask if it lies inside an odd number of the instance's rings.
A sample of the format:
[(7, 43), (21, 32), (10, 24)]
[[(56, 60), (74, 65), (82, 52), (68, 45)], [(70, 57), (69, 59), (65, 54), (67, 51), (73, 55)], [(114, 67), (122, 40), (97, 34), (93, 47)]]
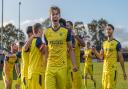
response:
[(113, 39), (103, 42), (104, 65), (102, 76), (102, 89), (116, 89), (117, 81), (117, 59), (121, 51), (119, 41)]

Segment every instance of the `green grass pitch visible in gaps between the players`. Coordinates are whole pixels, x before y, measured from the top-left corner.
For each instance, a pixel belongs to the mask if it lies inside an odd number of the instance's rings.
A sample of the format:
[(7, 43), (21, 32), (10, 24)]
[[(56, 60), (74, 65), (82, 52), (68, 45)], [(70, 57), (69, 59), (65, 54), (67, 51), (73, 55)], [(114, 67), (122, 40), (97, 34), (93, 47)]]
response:
[[(94, 78), (97, 82), (97, 88), (96, 89), (102, 89), (101, 88), (101, 79), (102, 79), (102, 63), (94, 63)], [(125, 63), (125, 68), (128, 76), (128, 62)], [(14, 73), (15, 76), (15, 73)], [(12, 89), (15, 89), (15, 83), (16, 81), (13, 81)], [(0, 89), (4, 89), (4, 83), (1, 76), (0, 71)], [(93, 82), (91, 80), (88, 80), (88, 89), (95, 89), (93, 87)], [(128, 79), (126, 81), (123, 80), (123, 73), (121, 70), (121, 66), (118, 63), (118, 81), (117, 81), (117, 88), (116, 89), (128, 89)]]

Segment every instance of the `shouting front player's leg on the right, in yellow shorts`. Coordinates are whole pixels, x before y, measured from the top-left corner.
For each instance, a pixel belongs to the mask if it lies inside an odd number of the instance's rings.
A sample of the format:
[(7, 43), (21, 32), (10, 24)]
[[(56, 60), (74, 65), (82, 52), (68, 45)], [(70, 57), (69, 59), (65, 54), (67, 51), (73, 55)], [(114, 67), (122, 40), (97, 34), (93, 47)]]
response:
[(66, 89), (67, 68), (60, 68), (56, 74), (57, 89)]

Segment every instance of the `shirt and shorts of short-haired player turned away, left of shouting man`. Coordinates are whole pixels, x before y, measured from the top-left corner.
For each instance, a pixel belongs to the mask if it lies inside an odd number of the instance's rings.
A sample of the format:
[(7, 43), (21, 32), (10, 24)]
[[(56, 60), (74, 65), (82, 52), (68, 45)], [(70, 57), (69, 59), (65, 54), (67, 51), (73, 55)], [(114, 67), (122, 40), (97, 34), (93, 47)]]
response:
[(40, 37), (35, 37), (29, 48), (28, 89), (44, 89), (44, 58), (40, 47), (44, 45)]

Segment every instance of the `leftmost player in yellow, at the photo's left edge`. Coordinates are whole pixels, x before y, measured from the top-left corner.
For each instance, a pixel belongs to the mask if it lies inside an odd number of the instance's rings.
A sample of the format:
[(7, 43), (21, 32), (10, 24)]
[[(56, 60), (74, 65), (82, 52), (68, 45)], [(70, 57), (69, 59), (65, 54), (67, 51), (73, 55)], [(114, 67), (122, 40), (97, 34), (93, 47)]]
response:
[(11, 51), (6, 55), (3, 67), (3, 80), (5, 89), (11, 89), (13, 81), (13, 69), (16, 63), (16, 52), (18, 46), (15, 43), (11, 44)]

